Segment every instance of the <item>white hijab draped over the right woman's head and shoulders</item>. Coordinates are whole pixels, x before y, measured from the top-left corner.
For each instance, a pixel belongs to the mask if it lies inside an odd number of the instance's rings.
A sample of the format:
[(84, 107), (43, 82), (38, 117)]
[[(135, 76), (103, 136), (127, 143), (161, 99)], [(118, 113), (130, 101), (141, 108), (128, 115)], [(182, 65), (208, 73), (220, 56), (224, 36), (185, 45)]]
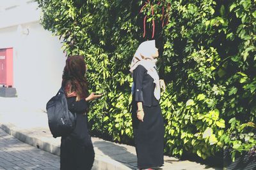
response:
[[(151, 41), (144, 41), (140, 44), (138, 49), (136, 50), (134, 57), (132, 58), (130, 71), (131, 73), (138, 67), (139, 65), (145, 67), (147, 69), (147, 73), (154, 79), (154, 83), (156, 84), (154, 90), (154, 96), (157, 100), (160, 99), (160, 83), (159, 83), (159, 76), (156, 71), (156, 61), (152, 55), (156, 53), (156, 44), (155, 40)], [(132, 93), (134, 90), (134, 84), (132, 85)]]

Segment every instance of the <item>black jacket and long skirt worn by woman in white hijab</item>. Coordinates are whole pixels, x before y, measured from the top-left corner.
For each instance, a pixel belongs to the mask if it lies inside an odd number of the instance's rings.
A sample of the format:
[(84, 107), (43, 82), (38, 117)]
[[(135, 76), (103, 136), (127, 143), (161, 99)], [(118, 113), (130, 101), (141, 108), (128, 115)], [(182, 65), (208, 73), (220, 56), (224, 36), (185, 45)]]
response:
[[(154, 97), (154, 80), (145, 67), (133, 71), (132, 127), (138, 158), (138, 168), (163, 166), (164, 124), (159, 102)], [(137, 118), (137, 103), (143, 103), (143, 122)]]

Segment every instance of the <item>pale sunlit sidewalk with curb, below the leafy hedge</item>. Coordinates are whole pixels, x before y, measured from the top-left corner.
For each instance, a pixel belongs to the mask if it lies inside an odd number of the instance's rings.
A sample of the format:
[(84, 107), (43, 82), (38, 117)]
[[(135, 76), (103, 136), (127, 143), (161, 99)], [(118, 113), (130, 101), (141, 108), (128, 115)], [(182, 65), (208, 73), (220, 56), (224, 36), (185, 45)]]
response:
[[(47, 114), (44, 110), (33, 108), (28, 101), (0, 97), (1, 129), (24, 143), (60, 155), (60, 138), (52, 138), (47, 121)], [(136, 169), (137, 159), (134, 146), (120, 145), (100, 138), (92, 138), (92, 141), (95, 149), (93, 169)], [(164, 167), (162, 168), (220, 169), (188, 160), (179, 161), (166, 156), (164, 156)]]

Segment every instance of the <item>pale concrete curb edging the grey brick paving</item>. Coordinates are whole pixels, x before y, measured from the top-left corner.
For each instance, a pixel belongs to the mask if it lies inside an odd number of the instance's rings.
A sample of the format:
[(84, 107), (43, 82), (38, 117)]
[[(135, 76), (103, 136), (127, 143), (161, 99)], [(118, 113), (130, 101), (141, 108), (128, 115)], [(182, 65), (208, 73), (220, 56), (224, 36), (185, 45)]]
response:
[[(14, 136), (20, 141), (27, 143), (29, 145), (40, 148), (46, 152), (50, 152), (54, 155), (60, 156), (60, 145), (54, 145), (45, 141), (44, 139), (40, 139), (38, 134), (34, 134), (31, 131), (20, 130), (13, 124), (2, 124), (0, 122), (0, 128), (3, 129), (6, 133)], [(36, 138), (38, 136), (38, 138)], [(117, 162), (116, 160), (109, 159), (108, 157), (103, 157), (102, 155), (97, 155), (95, 153), (95, 160), (93, 162), (93, 170), (96, 169), (104, 169), (104, 170), (131, 170), (131, 167), (127, 167), (124, 164)]]

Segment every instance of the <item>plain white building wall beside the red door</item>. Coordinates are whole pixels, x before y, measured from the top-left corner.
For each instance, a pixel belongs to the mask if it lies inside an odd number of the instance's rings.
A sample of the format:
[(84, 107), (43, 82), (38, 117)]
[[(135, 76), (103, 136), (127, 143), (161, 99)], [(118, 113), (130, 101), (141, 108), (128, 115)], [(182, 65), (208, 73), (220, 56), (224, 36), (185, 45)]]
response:
[(36, 3), (24, 1), (21, 6), (0, 11), (0, 48), (13, 48), (17, 96), (44, 109), (60, 88), (66, 58), (60, 40), (39, 24)]

